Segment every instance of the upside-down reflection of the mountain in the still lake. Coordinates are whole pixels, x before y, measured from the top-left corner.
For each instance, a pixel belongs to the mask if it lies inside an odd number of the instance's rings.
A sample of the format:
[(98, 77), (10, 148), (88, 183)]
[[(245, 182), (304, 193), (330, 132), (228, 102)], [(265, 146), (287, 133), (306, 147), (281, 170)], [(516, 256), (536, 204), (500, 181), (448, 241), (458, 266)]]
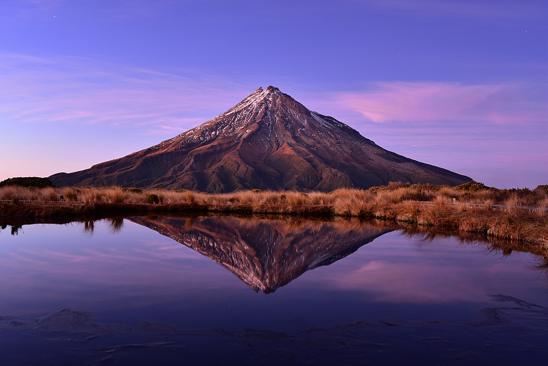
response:
[(359, 222), (233, 216), (128, 220), (196, 250), (264, 293), (275, 291), (307, 270), (338, 261), (390, 231)]

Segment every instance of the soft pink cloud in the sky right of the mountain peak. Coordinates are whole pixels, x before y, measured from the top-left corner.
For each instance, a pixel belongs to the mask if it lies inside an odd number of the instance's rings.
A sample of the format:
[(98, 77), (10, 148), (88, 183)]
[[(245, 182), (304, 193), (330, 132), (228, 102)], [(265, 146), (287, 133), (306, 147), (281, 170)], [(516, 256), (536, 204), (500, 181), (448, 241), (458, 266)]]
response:
[(442, 82), (380, 82), (371, 90), (341, 92), (339, 107), (359, 112), (372, 122), (494, 122), (546, 121), (545, 103), (531, 101), (521, 84), (465, 85)]

